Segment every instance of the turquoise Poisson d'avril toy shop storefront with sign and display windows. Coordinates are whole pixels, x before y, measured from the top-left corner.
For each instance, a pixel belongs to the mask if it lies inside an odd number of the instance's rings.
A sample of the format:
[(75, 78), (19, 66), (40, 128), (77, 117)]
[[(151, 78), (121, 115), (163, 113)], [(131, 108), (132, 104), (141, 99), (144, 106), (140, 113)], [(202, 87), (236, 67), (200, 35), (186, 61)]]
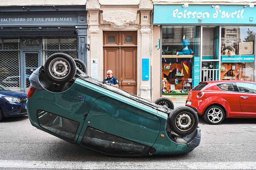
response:
[(255, 81), (255, 12), (253, 5), (154, 5), (162, 95), (186, 98), (200, 81)]

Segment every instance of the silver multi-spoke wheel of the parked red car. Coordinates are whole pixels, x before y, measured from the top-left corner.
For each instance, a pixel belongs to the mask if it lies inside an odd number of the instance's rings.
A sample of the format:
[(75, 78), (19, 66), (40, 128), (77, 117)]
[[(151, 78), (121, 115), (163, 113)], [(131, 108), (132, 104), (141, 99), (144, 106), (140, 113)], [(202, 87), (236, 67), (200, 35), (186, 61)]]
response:
[(203, 118), (210, 124), (219, 124), (224, 120), (224, 111), (219, 106), (211, 106), (204, 112)]

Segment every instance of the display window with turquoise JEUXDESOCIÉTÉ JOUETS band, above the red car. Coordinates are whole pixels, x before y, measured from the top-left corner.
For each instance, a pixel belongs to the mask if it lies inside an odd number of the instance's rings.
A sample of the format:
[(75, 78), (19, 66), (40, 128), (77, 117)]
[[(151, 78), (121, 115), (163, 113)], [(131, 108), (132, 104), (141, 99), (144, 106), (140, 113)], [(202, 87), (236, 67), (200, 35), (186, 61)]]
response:
[(255, 33), (256, 27), (222, 27), (221, 80), (254, 81)]

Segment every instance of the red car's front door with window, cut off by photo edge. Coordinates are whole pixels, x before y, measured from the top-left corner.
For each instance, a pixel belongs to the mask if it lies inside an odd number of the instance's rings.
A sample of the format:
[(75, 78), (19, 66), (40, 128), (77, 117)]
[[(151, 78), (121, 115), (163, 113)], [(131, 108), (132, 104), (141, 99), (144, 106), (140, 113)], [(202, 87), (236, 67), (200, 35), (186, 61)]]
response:
[(256, 84), (236, 82), (239, 89), (239, 100), (245, 116), (256, 116)]

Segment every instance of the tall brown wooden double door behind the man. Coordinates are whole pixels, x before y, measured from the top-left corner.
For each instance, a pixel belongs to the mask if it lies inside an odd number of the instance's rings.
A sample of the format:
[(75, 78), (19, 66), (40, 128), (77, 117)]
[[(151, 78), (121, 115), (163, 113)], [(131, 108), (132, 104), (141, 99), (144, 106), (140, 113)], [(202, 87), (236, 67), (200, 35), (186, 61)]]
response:
[(119, 88), (137, 95), (137, 32), (103, 32), (103, 75), (112, 70)]

